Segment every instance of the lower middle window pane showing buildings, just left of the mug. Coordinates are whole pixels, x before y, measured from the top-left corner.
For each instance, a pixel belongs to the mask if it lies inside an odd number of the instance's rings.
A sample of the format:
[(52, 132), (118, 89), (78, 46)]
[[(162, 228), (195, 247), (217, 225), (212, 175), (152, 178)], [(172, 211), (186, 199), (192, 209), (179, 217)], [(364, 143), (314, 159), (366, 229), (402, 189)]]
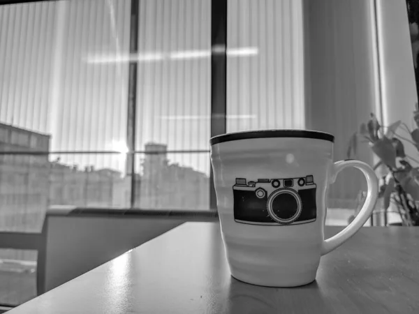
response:
[(167, 153), (166, 145), (147, 144), (137, 154), (140, 176), (135, 206), (142, 209), (210, 209), (210, 154)]

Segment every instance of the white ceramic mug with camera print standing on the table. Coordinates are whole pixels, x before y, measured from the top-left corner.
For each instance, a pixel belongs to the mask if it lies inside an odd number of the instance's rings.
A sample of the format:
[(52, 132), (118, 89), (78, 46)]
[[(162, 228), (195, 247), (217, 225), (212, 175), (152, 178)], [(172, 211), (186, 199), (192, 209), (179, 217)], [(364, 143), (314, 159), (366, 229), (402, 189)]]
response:
[[(376, 204), (378, 179), (359, 160), (333, 163), (333, 142), (333, 135), (310, 130), (211, 138), (221, 234), (233, 277), (270, 287), (311, 283), (321, 255), (365, 224)], [(346, 167), (365, 174), (367, 199), (350, 225), (325, 240), (326, 190)]]

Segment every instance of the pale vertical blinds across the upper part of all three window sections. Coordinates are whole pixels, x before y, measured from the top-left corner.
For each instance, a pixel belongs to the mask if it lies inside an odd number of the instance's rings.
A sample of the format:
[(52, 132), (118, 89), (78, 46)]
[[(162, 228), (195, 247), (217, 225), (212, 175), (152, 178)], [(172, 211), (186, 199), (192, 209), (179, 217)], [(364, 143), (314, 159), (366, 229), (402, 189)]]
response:
[[(150, 140), (207, 148), (210, 5), (140, 2), (140, 149)], [(129, 8), (127, 0), (1, 6), (0, 120), (53, 133), (56, 150), (124, 142)], [(228, 130), (304, 128), (302, 1), (228, 1), (228, 48)]]

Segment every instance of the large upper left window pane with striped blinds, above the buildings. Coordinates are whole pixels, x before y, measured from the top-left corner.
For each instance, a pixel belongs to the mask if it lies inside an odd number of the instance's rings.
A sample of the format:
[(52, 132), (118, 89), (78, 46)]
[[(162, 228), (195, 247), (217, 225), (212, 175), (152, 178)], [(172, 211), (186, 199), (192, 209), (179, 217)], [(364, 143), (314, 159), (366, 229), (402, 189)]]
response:
[[(50, 135), (53, 151), (118, 150), (128, 65), (103, 56), (128, 51), (130, 7), (129, 0), (0, 6), (0, 123)], [(27, 133), (10, 137), (38, 147)]]

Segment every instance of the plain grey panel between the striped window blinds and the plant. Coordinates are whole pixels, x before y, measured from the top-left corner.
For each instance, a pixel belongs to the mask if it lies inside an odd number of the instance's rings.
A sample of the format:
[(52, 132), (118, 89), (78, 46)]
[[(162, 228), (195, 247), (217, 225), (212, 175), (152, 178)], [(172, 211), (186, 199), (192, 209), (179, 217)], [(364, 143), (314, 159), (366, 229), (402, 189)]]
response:
[[(346, 158), (348, 140), (370, 112), (380, 111), (374, 2), (304, 0), (306, 127), (335, 135), (335, 160)], [(372, 164), (367, 144), (358, 158)], [(344, 170), (330, 186), (330, 207), (355, 208), (365, 179)]]

